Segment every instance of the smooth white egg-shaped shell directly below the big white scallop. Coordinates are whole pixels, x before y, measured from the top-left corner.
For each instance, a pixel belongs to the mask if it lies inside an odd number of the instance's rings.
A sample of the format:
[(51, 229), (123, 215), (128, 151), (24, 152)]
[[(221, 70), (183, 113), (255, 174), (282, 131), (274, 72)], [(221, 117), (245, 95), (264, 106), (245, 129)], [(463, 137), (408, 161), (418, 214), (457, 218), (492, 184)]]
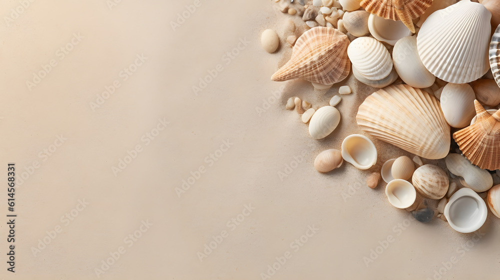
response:
[(467, 83), (448, 83), (441, 91), (441, 110), (451, 127), (463, 128), (474, 117), (475, 94)]

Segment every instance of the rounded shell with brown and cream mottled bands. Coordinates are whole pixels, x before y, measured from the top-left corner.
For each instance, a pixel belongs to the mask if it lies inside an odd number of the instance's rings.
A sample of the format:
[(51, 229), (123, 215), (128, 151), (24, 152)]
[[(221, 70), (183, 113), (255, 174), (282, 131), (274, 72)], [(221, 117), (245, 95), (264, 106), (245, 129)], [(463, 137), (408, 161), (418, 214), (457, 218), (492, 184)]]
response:
[(432, 164), (424, 164), (416, 168), (411, 182), (422, 196), (430, 199), (442, 198), (446, 195), (449, 186), (446, 173)]

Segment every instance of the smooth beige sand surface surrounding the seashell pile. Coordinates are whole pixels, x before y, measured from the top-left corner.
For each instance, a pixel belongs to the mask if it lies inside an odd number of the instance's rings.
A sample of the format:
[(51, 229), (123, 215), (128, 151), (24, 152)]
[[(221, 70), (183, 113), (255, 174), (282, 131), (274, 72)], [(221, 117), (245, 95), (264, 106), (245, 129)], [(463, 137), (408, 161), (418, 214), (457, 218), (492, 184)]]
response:
[[(500, 272), (491, 213), (485, 235), (472, 241), (439, 219), (422, 224), (390, 206), (383, 184), (365, 185), (369, 172), (406, 152), (374, 140), (379, 155), (370, 170), (313, 169), (317, 153), (358, 132), (357, 105), (371, 92), (352, 76), (327, 91), (270, 81), (291, 53), (281, 25), (288, 15), (273, 1), (200, 0), (192, 13), (191, 0), (21, 2), (0, 2), (0, 179), (7, 182), (7, 163), (15, 162), (17, 182), (15, 273), (6, 263), (6, 187), (0, 193), (2, 279), (493, 279)], [(188, 18), (172, 28), (182, 12)], [(282, 40), (276, 53), (260, 47), (265, 28)], [(28, 86), (51, 59), (56, 65)], [(194, 94), (217, 64), (222, 70)], [(134, 70), (126, 80), (125, 67)], [(98, 99), (115, 80), (114, 93)], [(326, 105), (342, 84), (354, 93), (343, 96), (340, 125), (325, 139), (312, 139), (284, 109), (289, 96)], [(163, 129), (158, 119), (169, 124)], [(120, 159), (128, 163), (115, 176)], [(195, 182), (178, 192), (191, 173)]]

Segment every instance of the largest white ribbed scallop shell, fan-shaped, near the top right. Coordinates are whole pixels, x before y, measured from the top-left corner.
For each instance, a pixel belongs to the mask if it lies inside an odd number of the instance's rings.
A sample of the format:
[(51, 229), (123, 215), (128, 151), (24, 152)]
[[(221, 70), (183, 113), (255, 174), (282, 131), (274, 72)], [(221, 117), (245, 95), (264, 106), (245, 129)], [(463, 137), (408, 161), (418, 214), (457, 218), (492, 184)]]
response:
[(436, 77), (467, 83), (489, 69), (491, 13), (481, 4), (462, 0), (432, 13), (416, 38), (418, 54)]

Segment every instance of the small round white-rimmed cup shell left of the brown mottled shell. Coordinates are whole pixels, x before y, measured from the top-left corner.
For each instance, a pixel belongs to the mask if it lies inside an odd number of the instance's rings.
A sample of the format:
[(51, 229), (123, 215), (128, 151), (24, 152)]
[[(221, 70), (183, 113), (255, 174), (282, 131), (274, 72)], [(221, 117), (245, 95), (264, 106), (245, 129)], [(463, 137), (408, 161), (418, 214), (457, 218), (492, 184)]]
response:
[(393, 179), (385, 186), (385, 195), (396, 208), (408, 208), (415, 202), (416, 191), (413, 185), (403, 179)]

